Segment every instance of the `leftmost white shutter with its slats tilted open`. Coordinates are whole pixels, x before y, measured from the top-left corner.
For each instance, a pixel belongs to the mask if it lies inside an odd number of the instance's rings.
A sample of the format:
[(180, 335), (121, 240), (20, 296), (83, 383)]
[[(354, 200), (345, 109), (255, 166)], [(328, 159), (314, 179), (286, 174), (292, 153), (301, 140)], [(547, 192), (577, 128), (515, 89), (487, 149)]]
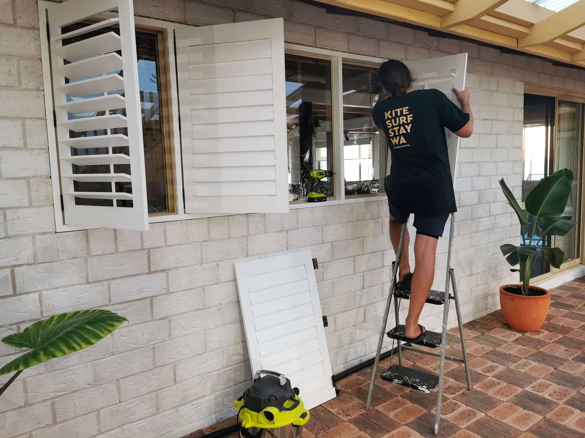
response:
[(48, 18), (65, 224), (147, 230), (132, 0), (68, 0)]

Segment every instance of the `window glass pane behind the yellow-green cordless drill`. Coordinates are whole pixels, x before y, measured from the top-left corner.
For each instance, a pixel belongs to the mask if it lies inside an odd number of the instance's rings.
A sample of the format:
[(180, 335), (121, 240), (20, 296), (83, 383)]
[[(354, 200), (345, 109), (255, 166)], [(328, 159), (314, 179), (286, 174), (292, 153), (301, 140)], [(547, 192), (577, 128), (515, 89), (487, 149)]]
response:
[(333, 171), (331, 61), (285, 54), (288, 184), (291, 201), (310, 192), (333, 197), (333, 178), (315, 181), (311, 169)]

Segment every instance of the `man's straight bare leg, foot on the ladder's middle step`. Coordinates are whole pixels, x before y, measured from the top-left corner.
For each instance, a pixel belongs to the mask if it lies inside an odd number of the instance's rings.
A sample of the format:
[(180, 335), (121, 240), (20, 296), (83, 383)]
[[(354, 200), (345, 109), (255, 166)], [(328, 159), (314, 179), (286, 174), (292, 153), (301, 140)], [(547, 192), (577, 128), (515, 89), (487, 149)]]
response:
[(429, 296), (433, 279), (435, 278), (435, 252), (438, 240), (417, 234), (414, 241), (414, 273), (412, 273), (412, 287), (410, 303), (406, 317), (406, 337), (417, 338), (421, 334), (418, 326), (418, 318), (421, 316), (422, 307)]

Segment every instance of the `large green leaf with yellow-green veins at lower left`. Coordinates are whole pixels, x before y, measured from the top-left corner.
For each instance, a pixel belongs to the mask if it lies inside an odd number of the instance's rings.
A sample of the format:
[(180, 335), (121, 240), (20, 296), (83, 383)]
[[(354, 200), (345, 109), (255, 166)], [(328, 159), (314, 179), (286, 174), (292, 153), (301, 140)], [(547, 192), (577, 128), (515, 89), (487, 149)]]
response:
[(2, 367), (0, 376), (94, 345), (125, 321), (128, 319), (109, 310), (82, 310), (35, 322), (22, 332), (2, 339), (13, 347), (32, 350)]

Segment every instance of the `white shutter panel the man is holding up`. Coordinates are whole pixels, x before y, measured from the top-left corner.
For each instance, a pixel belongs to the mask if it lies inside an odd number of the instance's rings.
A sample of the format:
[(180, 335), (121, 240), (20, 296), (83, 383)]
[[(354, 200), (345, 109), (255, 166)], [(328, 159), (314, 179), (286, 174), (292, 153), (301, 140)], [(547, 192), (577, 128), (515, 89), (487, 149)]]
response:
[[(412, 87), (413, 89), (436, 88), (445, 93), (449, 99), (459, 106), (459, 102), (457, 102), (457, 99), (455, 98), (455, 93), (453, 93), (453, 88), (459, 90), (465, 88), (467, 53), (431, 58), (430, 60), (408, 61), (405, 62), (405, 64), (417, 79)], [(445, 130), (445, 133), (447, 135), (447, 145), (449, 148), (451, 175), (453, 177), (453, 184), (455, 184), (459, 137), (448, 129)], [(390, 175), (390, 162), (390, 155), (388, 155), (387, 175)]]

